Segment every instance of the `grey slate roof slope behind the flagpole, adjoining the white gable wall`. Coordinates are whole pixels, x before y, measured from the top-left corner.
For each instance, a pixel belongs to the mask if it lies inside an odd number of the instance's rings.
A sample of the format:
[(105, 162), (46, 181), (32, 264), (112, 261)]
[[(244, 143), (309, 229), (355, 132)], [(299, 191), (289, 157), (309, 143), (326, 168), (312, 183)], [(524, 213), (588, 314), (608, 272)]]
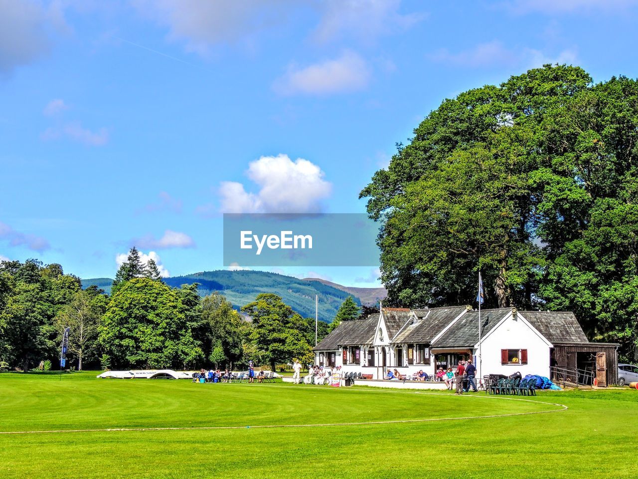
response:
[[(481, 335), (485, 336), (505, 317), (510, 308), (484, 309), (480, 312)], [(479, 312), (468, 311), (434, 342), (433, 347), (472, 347), (479, 342)]]

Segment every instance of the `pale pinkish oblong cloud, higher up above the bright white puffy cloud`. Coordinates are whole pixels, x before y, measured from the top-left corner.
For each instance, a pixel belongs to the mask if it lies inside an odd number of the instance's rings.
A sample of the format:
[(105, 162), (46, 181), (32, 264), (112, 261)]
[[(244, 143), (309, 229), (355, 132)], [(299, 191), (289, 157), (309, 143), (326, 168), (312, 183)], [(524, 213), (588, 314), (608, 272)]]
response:
[(281, 95), (330, 95), (364, 89), (369, 79), (366, 61), (346, 50), (336, 59), (302, 68), (289, 66), (288, 72), (274, 82), (273, 89)]

